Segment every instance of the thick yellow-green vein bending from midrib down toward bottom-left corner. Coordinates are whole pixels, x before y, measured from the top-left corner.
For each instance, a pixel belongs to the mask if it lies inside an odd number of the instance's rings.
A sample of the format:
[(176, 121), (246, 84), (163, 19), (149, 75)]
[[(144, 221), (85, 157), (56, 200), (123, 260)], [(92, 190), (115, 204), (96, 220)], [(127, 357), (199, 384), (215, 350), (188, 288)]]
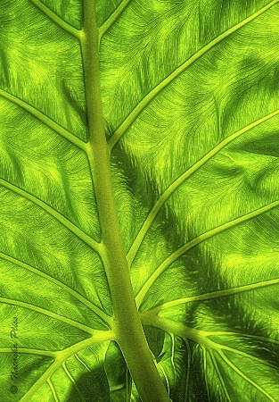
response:
[(111, 331), (94, 331), (96, 337), (89, 338), (78, 342), (76, 345), (71, 346), (70, 348), (66, 348), (58, 353), (53, 364), (48, 367), (43, 375), (32, 385), (32, 387), (28, 390), (28, 392), (20, 399), (19, 402), (29, 402), (31, 397), (37, 392), (37, 390), (48, 381), (53, 373), (65, 362), (70, 356), (78, 353), (79, 351), (86, 349), (96, 343), (100, 343), (106, 340), (110, 340), (113, 338)]

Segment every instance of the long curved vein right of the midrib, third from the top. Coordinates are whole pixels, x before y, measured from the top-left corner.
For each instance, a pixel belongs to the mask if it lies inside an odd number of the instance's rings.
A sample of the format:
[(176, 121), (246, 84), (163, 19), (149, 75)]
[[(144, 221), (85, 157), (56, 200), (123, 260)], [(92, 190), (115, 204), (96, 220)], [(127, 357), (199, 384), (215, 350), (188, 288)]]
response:
[(129, 266), (131, 266), (131, 264), (133, 264), (135, 255), (136, 255), (137, 251), (139, 250), (139, 248), (141, 247), (144, 237), (145, 237), (147, 231), (149, 230), (149, 228), (151, 227), (152, 222), (154, 221), (157, 214), (159, 213), (160, 208), (166, 203), (168, 198), (176, 191), (176, 189), (179, 186), (181, 186), (181, 184), (183, 184), (185, 182), (185, 180), (189, 179), (189, 177), (192, 176), (194, 172), (197, 172), (198, 169), (200, 169), (204, 163), (208, 162), (209, 159), (211, 159), (214, 155), (217, 155), (217, 153), (221, 149), (223, 149), (224, 147), (226, 147), (226, 145), (228, 145), (232, 141), (234, 141), (234, 139), (239, 138), (242, 134), (253, 129), (254, 127), (258, 126), (259, 124), (263, 123), (264, 121), (267, 121), (267, 120), (271, 119), (272, 117), (275, 117), (278, 113), (279, 113), (279, 109), (277, 109), (273, 113), (267, 114), (267, 116), (264, 116), (261, 119), (258, 119), (257, 121), (253, 121), (248, 126), (244, 127), (242, 130), (238, 130), (238, 131), (234, 132), (234, 134), (225, 138), (216, 147), (212, 148), (198, 162), (194, 163), (190, 169), (188, 169), (186, 172), (184, 172), (170, 186), (168, 186), (168, 188), (161, 194), (161, 196), (158, 198), (156, 203), (153, 205), (152, 210), (146, 217), (141, 230), (139, 230), (132, 246), (130, 247), (130, 249), (127, 253), (127, 264)]

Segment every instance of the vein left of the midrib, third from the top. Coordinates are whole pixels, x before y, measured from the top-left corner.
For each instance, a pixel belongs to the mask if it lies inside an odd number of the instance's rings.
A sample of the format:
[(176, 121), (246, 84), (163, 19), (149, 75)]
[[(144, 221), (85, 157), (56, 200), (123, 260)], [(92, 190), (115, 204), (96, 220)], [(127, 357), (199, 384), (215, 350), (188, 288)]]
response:
[(79, 229), (78, 226), (76, 226), (74, 223), (70, 222), (70, 220), (67, 219), (64, 215), (55, 211), (55, 209), (53, 209), (52, 206), (46, 204), (44, 201), (33, 196), (28, 191), (25, 191), (22, 188), (15, 186), (14, 184), (10, 183), (7, 180), (0, 179), (0, 185), (3, 186), (4, 188), (9, 189), (13, 193), (16, 193), (19, 196), (26, 198), (33, 204), (42, 208), (47, 214), (50, 214), (51, 216), (53, 216), (53, 218), (56, 219), (56, 221), (62, 223), (62, 225), (65, 228), (67, 228), (68, 230), (70, 230), (74, 235), (76, 235), (78, 239), (82, 240), (89, 247), (92, 247), (100, 255), (101, 251), (103, 250), (102, 244), (98, 243), (94, 239), (92, 239), (89, 235), (86, 234), (86, 232)]

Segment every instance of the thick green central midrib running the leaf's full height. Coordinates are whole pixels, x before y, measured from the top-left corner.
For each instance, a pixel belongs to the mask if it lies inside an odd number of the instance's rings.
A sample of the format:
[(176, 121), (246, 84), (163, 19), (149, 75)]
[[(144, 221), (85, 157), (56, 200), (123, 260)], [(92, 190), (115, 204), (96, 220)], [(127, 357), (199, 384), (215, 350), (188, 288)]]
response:
[(81, 38), (84, 61), (89, 140), (86, 153), (102, 229), (103, 263), (114, 309), (116, 338), (143, 402), (169, 402), (144, 336), (129, 277), (114, 202), (110, 152), (105, 137), (99, 72), (98, 29), (94, 2), (84, 1)]

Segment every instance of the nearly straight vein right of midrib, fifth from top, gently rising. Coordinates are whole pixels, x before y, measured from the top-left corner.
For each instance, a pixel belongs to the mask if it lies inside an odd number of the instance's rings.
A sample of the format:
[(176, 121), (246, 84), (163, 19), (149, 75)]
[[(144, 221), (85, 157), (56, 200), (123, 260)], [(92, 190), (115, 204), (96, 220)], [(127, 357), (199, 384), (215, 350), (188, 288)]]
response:
[[(279, 284), (279, 279), (269, 280), (269, 281), (260, 281), (260, 282), (256, 282), (256, 283), (250, 283), (249, 285), (237, 286), (237, 287), (231, 288), (231, 289), (216, 290), (215, 292), (203, 293), (202, 295), (181, 297), (181, 298), (177, 298), (176, 300), (172, 300), (170, 302), (163, 303), (160, 306), (156, 306), (156, 307), (148, 310), (147, 312), (144, 312), (144, 314), (158, 314), (158, 313), (160, 313), (160, 311), (165, 310), (166, 308), (183, 305), (185, 303), (210, 300), (212, 298), (217, 298), (217, 297), (233, 296), (233, 295), (237, 295), (238, 293), (249, 292), (252, 290), (266, 288), (267, 286), (278, 285), (278, 284)], [(234, 333), (234, 332), (232, 332), (232, 333)], [(216, 332), (214, 332), (212, 334), (216, 335)]]

